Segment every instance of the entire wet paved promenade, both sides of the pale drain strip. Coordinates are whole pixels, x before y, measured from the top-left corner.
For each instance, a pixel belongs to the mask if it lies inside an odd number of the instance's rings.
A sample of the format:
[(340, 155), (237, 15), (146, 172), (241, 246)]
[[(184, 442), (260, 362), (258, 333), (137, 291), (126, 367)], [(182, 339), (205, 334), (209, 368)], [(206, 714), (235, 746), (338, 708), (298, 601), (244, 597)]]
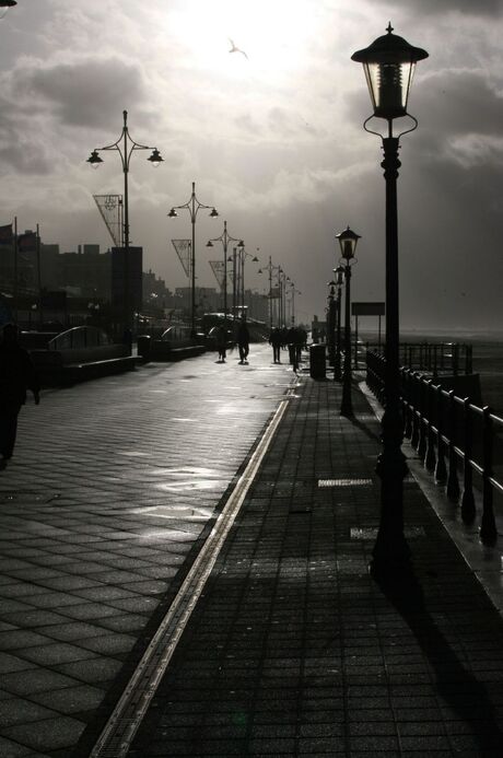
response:
[[(501, 758), (503, 620), (433, 494), (407, 478), (420, 592), (387, 595), (367, 397), (355, 383), (342, 418), (338, 383), (250, 358), (23, 410), (0, 479), (0, 755)], [(166, 415), (175, 380), (188, 404)]]

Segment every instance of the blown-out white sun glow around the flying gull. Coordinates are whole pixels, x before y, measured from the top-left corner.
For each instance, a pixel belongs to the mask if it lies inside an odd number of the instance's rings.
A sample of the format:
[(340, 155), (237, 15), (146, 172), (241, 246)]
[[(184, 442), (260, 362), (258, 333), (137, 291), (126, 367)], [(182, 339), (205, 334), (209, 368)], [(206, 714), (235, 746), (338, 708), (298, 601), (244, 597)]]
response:
[[(272, 83), (305, 63), (313, 0), (186, 0), (169, 26), (192, 66)], [(230, 53), (230, 39), (238, 50)]]

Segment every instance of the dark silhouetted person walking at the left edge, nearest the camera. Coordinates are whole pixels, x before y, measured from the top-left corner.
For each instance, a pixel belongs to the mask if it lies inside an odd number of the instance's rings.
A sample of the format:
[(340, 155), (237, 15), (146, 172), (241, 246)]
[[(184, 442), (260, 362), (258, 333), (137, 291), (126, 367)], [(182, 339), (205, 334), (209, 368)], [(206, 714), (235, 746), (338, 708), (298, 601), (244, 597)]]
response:
[(27, 351), (17, 343), (17, 327), (5, 324), (0, 343), (0, 453), (12, 457), (17, 431), (17, 416), (31, 389), (35, 404), (40, 401), (40, 384)]

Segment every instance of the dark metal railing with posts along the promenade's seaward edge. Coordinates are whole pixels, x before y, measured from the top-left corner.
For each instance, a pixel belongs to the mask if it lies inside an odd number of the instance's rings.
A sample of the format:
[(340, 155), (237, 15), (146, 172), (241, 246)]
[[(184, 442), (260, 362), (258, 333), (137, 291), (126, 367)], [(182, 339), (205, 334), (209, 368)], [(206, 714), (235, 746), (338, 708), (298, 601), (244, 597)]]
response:
[[(384, 357), (369, 351), (366, 370), (366, 383), (383, 404)], [(454, 389), (408, 369), (401, 369), (401, 405), (403, 435), (436, 482), (445, 486), (449, 500), (460, 500), (466, 524), (477, 517), (477, 479), (482, 500), (480, 538), (494, 545), (494, 498), (503, 497), (503, 419), (488, 406), (457, 397)]]

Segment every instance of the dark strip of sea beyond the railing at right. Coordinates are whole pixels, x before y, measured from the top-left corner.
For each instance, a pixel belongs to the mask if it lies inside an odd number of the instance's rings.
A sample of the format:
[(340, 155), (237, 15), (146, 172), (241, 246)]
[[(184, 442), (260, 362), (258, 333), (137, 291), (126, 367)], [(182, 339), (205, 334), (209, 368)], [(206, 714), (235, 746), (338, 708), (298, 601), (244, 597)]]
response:
[[(374, 341), (375, 333), (361, 331), (363, 341)], [(471, 345), (472, 369), (480, 376), (482, 405), (503, 418), (503, 329), (487, 331), (402, 330), (400, 342), (458, 342)]]

